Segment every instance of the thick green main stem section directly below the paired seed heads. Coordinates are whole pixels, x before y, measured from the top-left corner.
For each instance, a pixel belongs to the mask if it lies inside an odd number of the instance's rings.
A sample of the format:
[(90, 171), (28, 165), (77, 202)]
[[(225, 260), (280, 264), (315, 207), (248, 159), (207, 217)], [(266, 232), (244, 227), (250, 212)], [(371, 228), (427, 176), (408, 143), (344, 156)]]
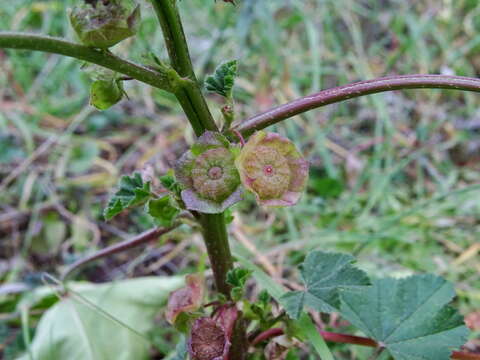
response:
[(201, 214), (203, 238), (213, 270), (217, 290), (230, 298), (227, 272), (233, 267), (224, 214)]

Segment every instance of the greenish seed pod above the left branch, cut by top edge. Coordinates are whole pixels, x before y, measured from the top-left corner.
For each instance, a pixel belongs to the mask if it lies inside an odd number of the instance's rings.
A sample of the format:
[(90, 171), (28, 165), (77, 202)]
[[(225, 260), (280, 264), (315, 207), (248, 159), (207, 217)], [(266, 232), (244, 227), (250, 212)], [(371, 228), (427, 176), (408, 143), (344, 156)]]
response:
[(75, 6), (69, 17), (84, 45), (107, 49), (135, 35), (140, 6), (133, 0), (94, 0)]

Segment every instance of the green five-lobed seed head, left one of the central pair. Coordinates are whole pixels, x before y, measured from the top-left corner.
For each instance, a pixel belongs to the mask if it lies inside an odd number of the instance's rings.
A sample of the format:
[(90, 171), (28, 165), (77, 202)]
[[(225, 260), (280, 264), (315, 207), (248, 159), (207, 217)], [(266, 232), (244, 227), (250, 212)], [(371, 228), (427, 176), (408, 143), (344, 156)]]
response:
[(205, 132), (175, 164), (175, 176), (186, 207), (209, 214), (241, 200), (235, 148), (220, 133)]

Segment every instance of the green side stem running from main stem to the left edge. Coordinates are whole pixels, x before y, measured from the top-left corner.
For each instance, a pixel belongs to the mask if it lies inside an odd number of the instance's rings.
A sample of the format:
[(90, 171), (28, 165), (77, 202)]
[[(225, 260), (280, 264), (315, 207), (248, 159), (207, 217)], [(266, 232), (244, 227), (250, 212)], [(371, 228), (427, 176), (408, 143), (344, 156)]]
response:
[(0, 31), (0, 48), (43, 51), (101, 65), (159, 89), (172, 92), (166, 73), (155, 71), (112, 53), (50, 36)]

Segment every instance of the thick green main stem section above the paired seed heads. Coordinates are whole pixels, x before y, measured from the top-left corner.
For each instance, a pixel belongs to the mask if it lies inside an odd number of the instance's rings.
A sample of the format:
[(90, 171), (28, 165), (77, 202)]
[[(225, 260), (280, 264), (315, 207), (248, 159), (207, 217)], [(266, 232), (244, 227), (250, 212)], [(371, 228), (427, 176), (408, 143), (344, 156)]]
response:
[(193, 71), (176, 1), (152, 0), (152, 4), (162, 27), (172, 67), (181, 77), (192, 80), (182, 82), (181, 86), (175, 89), (175, 96), (197, 136), (205, 130), (218, 131)]

